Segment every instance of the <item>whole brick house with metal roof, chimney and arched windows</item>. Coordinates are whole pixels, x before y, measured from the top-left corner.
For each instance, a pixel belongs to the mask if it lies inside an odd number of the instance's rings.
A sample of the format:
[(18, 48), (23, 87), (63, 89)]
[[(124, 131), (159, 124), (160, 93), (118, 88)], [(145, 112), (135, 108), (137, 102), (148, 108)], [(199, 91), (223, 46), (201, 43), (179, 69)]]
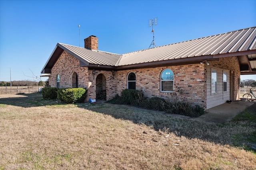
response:
[(52, 87), (87, 88), (87, 100), (132, 88), (209, 109), (238, 100), (240, 74), (256, 74), (256, 27), (122, 55), (98, 51), (92, 35), (84, 48), (57, 43), (41, 73)]

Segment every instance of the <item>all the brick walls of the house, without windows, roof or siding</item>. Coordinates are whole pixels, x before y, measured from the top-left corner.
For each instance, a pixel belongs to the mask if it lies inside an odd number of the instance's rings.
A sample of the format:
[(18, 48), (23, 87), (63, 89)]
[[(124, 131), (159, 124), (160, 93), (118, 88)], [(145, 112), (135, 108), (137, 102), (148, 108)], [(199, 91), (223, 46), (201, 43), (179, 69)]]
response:
[[(240, 77), (240, 71), (236, 57), (220, 58), (219, 61), (209, 63), (212, 67), (234, 72), (234, 96), (238, 98), (237, 78)], [(174, 93), (160, 92), (160, 74), (166, 68), (174, 73)], [(177, 98), (206, 107), (206, 64), (120, 70), (113, 76), (111, 71), (104, 70), (96, 70), (96, 73), (92, 74), (92, 70), (80, 67), (79, 60), (64, 51), (52, 68), (52, 76), (49, 77), (50, 86), (56, 86), (56, 76), (60, 74), (60, 87), (72, 87), (74, 72), (78, 74), (78, 87), (88, 89), (87, 100), (96, 98), (98, 75), (98, 78), (104, 81), (102, 84), (98, 82), (99, 88), (106, 88), (107, 100), (110, 100), (127, 88), (127, 76), (130, 72), (134, 72), (136, 74), (136, 89), (142, 90), (148, 98), (153, 96), (166, 99)], [(182, 93), (178, 92), (178, 89), (182, 89)]]

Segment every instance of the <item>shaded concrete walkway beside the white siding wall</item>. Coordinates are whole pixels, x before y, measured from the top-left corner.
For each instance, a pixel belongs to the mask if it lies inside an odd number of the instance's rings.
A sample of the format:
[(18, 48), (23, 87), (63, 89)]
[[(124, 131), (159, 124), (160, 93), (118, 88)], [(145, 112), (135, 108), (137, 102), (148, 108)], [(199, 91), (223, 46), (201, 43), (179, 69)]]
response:
[(233, 101), (231, 104), (225, 103), (216, 107), (212, 107), (206, 110), (206, 112), (208, 113), (200, 117), (191, 119), (217, 124), (226, 123), (227, 121), (230, 121), (232, 118), (238, 115), (238, 113), (244, 111), (244, 109), (253, 104), (254, 102), (243, 102), (237, 100)]

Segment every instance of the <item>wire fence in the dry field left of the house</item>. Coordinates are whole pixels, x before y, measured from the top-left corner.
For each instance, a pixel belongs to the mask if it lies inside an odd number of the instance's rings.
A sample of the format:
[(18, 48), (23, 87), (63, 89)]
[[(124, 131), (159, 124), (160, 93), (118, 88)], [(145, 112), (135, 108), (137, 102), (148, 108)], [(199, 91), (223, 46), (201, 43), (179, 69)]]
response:
[(19, 94), (39, 92), (42, 86), (0, 86), (0, 94)]

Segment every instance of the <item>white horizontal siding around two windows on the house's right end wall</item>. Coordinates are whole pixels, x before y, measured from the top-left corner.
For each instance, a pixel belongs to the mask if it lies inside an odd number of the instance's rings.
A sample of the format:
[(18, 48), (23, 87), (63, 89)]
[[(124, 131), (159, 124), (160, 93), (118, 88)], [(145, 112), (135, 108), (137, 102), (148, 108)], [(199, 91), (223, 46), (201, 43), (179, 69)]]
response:
[[(211, 69), (217, 70), (217, 93), (211, 93)], [(227, 73), (227, 91), (223, 92), (223, 71)], [(219, 68), (207, 67), (207, 103), (206, 108), (210, 109), (212, 107), (218, 106), (220, 104), (226, 103), (230, 100), (230, 71), (222, 70)]]

